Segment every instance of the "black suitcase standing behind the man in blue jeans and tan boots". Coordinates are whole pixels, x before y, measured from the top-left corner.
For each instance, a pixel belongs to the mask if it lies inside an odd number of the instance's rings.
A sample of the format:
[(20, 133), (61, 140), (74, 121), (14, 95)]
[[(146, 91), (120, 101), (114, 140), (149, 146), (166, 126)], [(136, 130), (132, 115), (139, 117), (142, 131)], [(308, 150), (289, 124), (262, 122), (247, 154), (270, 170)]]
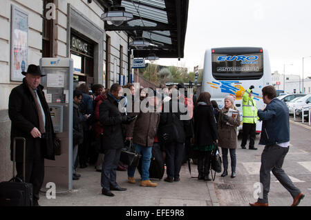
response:
[[(162, 179), (164, 175), (164, 170), (164, 161), (160, 145), (158, 143), (154, 143), (152, 147), (149, 178)], [(140, 172), (140, 175), (142, 174), (142, 159), (140, 159), (140, 163), (138, 165), (138, 172)]]

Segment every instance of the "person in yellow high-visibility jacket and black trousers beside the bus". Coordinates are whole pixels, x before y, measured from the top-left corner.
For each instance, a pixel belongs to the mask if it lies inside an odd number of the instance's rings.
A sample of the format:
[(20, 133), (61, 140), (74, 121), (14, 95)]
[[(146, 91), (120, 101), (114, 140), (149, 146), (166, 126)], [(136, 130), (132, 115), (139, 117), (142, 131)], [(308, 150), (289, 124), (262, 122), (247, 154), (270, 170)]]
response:
[(257, 108), (256, 101), (252, 97), (252, 89), (254, 89), (254, 86), (250, 86), (243, 95), (243, 137), (241, 148), (246, 149), (245, 146), (249, 135), (249, 150), (257, 150), (255, 148)]

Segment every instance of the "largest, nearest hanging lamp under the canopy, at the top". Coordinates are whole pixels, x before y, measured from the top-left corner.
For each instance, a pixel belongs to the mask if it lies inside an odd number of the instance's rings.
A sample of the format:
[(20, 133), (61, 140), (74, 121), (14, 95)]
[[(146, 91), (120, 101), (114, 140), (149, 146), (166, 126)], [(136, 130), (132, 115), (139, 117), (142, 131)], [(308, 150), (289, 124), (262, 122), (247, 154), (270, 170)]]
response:
[(102, 14), (102, 20), (114, 26), (120, 26), (124, 21), (133, 19), (131, 12), (126, 12), (123, 6), (111, 6), (108, 12)]

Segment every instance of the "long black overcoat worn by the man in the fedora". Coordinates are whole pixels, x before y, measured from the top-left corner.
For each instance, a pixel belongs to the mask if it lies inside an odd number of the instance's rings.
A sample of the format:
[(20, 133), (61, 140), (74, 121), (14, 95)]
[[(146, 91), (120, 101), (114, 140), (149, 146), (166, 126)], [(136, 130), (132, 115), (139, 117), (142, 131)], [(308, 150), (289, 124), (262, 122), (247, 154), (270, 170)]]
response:
[[(55, 160), (54, 149), (54, 130), (53, 123), (50, 117), (50, 109), (44, 97), (43, 86), (39, 85), (37, 94), (41, 101), (41, 106), (46, 115), (46, 139), (33, 138), (30, 134), (33, 128), (39, 129), (39, 114), (35, 99), (32, 97), (28, 88), (26, 79), (20, 86), (15, 87), (10, 93), (8, 114), (11, 125), (11, 160), (13, 160), (13, 139), (15, 137), (24, 137), (26, 139), (26, 161), (31, 161), (37, 157)], [(16, 144), (16, 161), (23, 161), (23, 143), (17, 141)]]

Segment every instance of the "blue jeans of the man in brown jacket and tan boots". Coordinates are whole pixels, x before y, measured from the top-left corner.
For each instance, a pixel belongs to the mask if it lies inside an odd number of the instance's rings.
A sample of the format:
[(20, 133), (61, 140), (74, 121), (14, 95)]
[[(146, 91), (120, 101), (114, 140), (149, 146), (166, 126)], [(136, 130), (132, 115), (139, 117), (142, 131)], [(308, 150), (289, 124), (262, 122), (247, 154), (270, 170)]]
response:
[[(133, 146), (139, 154), (142, 154), (142, 181), (149, 179), (149, 168), (151, 162), (151, 147), (141, 146), (139, 144), (133, 143)], [(129, 177), (134, 177), (136, 167), (129, 166), (127, 168), (127, 175)]]

